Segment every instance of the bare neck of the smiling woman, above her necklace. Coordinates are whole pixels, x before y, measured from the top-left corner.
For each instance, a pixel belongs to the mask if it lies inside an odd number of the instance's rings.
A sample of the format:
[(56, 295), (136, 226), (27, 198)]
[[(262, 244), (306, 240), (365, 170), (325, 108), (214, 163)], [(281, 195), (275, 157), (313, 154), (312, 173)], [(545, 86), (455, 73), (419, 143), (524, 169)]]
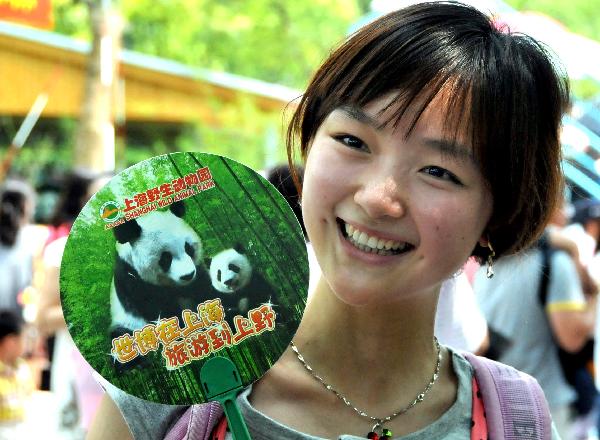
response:
[(431, 379), (437, 353), (433, 327), (437, 292), (393, 304), (355, 307), (321, 280), (294, 342), (315, 373), (352, 397), (391, 400), (418, 394)]

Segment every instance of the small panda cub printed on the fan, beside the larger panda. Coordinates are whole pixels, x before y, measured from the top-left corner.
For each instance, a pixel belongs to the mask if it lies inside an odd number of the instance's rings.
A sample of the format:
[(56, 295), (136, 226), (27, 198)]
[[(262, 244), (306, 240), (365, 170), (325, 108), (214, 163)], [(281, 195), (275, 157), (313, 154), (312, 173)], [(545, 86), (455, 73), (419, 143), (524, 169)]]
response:
[(267, 302), (275, 302), (275, 291), (253, 270), (240, 245), (225, 249), (210, 259), (210, 279), (221, 298), (225, 318), (235, 331), (233, 318), (246, 317), (248, 310)]

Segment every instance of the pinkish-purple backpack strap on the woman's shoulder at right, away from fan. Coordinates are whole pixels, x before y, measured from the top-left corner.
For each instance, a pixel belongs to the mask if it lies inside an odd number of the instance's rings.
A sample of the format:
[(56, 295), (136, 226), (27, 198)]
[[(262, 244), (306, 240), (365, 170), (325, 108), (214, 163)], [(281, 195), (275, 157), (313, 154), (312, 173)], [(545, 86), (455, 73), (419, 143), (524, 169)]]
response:
[(551, 440), (550, 410), (533, 377), (484, 357), (462, 354), (475, 370), (491, 439)]

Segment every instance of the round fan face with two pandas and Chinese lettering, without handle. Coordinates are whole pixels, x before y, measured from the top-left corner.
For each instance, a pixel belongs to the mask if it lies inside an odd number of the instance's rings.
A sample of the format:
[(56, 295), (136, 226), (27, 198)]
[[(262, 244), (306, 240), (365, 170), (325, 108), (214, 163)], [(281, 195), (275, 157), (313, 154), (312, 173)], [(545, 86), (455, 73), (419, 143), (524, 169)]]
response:
[(229, 358), (249, 385), (279, 358), (308, 265), (302, 230), (265, 179), (221, 156), (172, 153), (90, 199), (60, 281), (71, 336), (101, 376), (146, 400), (192, 404), (207, 400), (209, 359)]

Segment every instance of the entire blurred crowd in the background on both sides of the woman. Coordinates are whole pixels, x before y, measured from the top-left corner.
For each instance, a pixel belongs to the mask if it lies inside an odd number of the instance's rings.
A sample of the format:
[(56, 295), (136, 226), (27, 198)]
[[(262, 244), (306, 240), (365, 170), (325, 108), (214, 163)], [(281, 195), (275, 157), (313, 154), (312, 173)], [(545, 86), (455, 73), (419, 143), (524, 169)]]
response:
[[(263, 174), (302, 226), (288, 167)], [(108, 177), (74, 171), (36, 188), (16, 178), (0, 186), (0, 438), (82, 439), (94, 416), (103, 390), (68, 334), (59, 270), (73, 221)], [(438, 303), (439, 340), (534, 376), (565, 440), (597, 438), (599, 241), (600, 201), (565, 199), (537, 243), (492, 260), (491, 278), (469, 260)], [(310, 301), (320, 271), (307, 249)]]

